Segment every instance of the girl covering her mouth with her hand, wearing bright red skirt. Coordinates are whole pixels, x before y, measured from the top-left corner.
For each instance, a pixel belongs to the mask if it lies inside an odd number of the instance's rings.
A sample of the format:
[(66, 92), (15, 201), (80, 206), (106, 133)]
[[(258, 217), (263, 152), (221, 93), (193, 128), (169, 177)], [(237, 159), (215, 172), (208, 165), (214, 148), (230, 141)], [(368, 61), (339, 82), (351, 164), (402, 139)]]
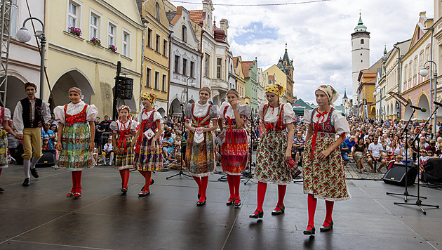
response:
[[(239, 198), (239, 182), (241, 172), (246, 168), (248, 160), (248, 140), (243, 126), (249, 120), (251, 110), (249, 105), (238, 104), (239, 93), (232, 88), (227, 91), (227, 102), (222, 103), (218, 125), (222, 132), (220, 136), (222, 170), (227, 173), (230, 197), (227, 206), (241, 206)], [(224, 120), (224, 126), (222, 121)]]

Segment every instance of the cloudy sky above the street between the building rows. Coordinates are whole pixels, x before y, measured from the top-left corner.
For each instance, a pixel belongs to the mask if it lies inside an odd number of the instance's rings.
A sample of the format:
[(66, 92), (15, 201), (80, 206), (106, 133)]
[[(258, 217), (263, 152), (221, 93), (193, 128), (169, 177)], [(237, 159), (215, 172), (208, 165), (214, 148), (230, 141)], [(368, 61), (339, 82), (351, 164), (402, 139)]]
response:
[[(202, 9), (202, 1), (170, 1), (187, 10)], [(217, 21), (229, 20), (228, 42), (234, 56), (257, 57), (258, 67), (267, 70), (282, 58), (286, 43), (295, 67), (293, 95), (316, 104), (314, 90), (332, 85), (342, 103), (344, 88), (351, 98), (351, 33), (359, 21), (370, 32), (370, 65), (399, 41), (411, 39), (421, 11), (434, 17), (431, 0), (330, 0), (281, 6), (217, 6), (216, 4), (300, 3), (311, 0), (213, 0)]]

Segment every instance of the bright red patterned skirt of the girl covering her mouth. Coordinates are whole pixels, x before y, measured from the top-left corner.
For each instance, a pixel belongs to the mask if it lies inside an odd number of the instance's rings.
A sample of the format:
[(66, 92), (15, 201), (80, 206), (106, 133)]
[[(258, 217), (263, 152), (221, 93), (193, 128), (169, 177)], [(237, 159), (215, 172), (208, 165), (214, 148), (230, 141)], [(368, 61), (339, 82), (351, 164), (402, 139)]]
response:
[(245, 129), (227, 129), (225, 143), (221, 146), (222, 170), (240, 175), (248, 161), (248, 140)]

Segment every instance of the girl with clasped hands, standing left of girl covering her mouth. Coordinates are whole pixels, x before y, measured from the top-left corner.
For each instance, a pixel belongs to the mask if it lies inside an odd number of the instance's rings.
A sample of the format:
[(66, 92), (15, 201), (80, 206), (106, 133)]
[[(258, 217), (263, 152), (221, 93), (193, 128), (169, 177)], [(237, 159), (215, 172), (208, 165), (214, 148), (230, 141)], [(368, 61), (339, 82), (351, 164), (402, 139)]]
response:
[[(217, 106), (210, 105), (210, 88), (199, 91), (199, 101), (186, 106), (185, 126), (189, 129), (186, 146), (186, 169), (198, 185), (198, 202), (196, 206), (206, 204), (208, 176), (215, 171), (215, 137), (212, 131), (217, 129)], [(210, 125), (210, 120), (213, 125)], [(192, 121), (192, 124), (190, 124)]]

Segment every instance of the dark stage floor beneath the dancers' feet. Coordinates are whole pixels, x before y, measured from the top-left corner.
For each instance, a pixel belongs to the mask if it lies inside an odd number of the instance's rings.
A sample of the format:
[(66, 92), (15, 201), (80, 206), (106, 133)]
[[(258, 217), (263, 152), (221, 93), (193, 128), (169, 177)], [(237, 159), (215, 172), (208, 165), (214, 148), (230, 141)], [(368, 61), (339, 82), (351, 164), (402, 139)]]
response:
[[(138, 197), (140, 173), (130, 174), (127, 195), (112, 166), (83, 171), (83, 196), (67, 198), (69, 171), (39, 168), (39, 179), (22, 187), (22, 166), (11, 165), (0, 176), (0, 249), (442, 249), (442, 209), (399, 206), (404, 187), (375, 180), (347, 180), (352, 199), (336, 202), (335, 228), (319, 232), (324, 202), (316, 211), (316, 236), (307, 226), (307, 195), (302, 183), (288, 185), (286, 213), (270, 213), (278, 199), (269, 185), (264, 218), (248, 218), (256, 207), (256, 187), (241, 184), (241, 208), (226, 206), (227, 182), (210, 176), (206, 206), (197, 207), (192, 178), (170, 178), (156, 172), (151, 195)], [(408, 188), (416, 194), (416, 186)], [(424, 204), (442, 204), (442, 192), (421, 188)], [(409, 199), (415, 203), (415, 199)]]

